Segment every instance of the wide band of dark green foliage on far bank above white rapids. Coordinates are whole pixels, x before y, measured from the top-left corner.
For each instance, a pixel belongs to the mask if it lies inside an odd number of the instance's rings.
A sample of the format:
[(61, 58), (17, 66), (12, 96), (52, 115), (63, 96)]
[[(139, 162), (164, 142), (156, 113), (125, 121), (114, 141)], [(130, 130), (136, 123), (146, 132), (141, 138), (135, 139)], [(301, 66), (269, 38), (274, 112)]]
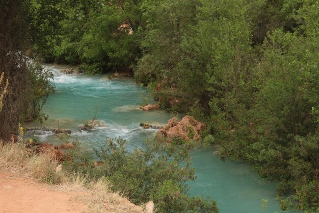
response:
[(35, 37), (35, 52), (46, 62), (81, 64), (79, 68), (89, 74), (131, 70), (141, 57), (140, 41), (146, 25), (141, 2), (33, 1), (40, 11), (37, 16), (60, 13), (50, 20), (54, 25), (41, 28), (42, 40)]

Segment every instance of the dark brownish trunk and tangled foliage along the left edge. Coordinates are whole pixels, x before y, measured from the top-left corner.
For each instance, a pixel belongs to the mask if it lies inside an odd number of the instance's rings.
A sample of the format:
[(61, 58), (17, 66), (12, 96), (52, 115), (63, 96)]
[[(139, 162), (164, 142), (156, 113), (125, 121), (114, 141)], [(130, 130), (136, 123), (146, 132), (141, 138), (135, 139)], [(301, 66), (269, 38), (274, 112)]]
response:
[(9, 140), (16, 134), (19, 122), (43, 119), (41, 108), (53, 90), (50, 74), (26, 57), (26, 49), (31, 46), (29, 27), (36, 20), (30, 10), (28, 1), (0, 3), (0, 72), (4, 73), (0, 84), (0, 139)]

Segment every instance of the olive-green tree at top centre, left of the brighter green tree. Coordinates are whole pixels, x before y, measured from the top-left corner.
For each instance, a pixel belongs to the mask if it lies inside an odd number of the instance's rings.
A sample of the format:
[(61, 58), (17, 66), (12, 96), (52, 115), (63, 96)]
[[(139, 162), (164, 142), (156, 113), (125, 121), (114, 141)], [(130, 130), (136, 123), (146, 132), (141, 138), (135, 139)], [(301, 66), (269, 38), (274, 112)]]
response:
[[(147, 27), (142, 41), (143, 57), (135, 73), (137, 82), (147, 85), (168, 80), (180, 61), (180, 42), (193, 25), (198, 3), (197, 0), (143, 2)], [(174, 81), (168, 81), (171, 80)], [(167, 87), (171, 85), (170, 82)]]

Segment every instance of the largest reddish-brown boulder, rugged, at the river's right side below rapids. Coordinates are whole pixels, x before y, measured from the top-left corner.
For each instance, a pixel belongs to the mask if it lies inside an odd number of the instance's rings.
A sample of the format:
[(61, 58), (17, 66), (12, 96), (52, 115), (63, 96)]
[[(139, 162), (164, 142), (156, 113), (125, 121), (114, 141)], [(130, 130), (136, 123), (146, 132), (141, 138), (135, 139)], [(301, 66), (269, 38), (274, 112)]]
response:
[(198, 122), (194, 117), (186, 115), (178, 122), (176, 117), (168, 121), (168, 124), (159, 130), (158, 135), (164, 137), (167, 142), (173, 138), (183, 140), (199, 140), (200, 133), (205, 129), (205, 124)]

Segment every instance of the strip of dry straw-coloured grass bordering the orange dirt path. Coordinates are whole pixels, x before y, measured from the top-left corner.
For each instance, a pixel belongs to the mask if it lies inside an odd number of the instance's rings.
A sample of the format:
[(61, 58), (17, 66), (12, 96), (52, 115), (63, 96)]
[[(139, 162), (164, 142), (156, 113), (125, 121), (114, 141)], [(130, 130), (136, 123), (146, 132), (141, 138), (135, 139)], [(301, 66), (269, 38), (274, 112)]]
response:
[(59, 162), (48, 154), (35, 154), (23, 144), (0, 141), (0, 172), (1, 169), (7, 169), (10, 172), (28, 173), (42, 182), (59, 184), (60, 190), (81, 191), (83, 193), (76, 199), (88, 205), (88, 213), (143, 211), (117, 193), (112, 193), (107, 178), (88, 180), (84, 175), (72, 171), (62, 169), (56, 172), (58, 165)]

